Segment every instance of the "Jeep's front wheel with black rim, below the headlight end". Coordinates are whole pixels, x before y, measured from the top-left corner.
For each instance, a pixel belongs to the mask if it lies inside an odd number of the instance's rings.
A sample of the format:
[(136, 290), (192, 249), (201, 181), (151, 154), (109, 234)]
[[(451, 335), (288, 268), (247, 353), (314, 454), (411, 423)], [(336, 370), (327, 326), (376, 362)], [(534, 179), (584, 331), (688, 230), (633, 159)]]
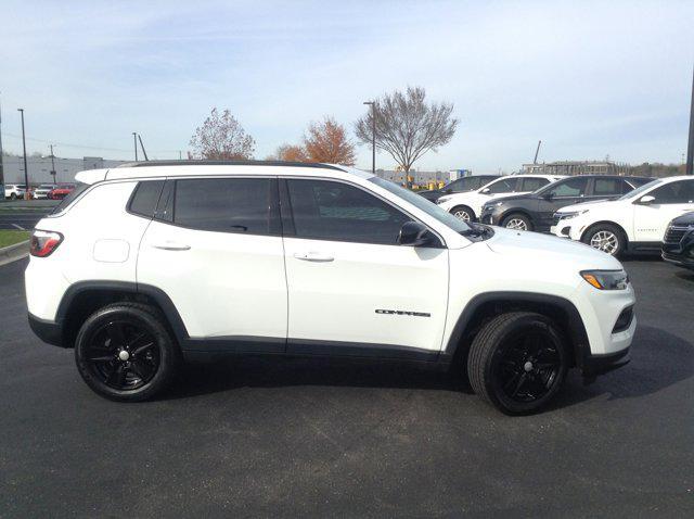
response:
[(569, 352), (564, 334), (548, 317), (531, 312), (502, 314), (473, 340), (470, 384), (506, 415), (536, 413), (564, 383)]

